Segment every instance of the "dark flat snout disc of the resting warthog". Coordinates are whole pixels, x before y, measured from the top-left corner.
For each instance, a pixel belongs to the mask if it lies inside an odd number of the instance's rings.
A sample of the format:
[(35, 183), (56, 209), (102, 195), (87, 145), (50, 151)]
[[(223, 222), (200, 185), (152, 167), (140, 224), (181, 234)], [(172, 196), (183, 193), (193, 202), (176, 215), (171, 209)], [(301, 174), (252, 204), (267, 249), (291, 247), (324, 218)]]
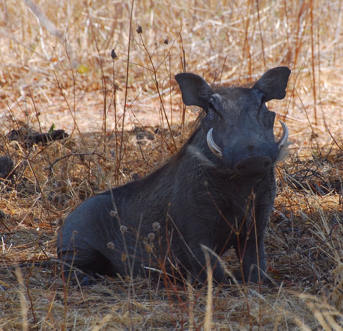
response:
[(249, 155), (244, 160), (235, 164), (235, 171), (241, 176), (263, 176), (266, 175), (272, 165), (268, 156)]

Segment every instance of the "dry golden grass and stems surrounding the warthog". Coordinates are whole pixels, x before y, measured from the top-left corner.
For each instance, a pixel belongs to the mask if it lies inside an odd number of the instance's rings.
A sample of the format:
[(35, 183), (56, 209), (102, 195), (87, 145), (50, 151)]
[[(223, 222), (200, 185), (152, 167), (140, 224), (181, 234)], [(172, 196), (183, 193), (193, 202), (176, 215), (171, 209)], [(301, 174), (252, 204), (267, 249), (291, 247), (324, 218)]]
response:
[[(14, 165), (0, 186), (0, 330), (342, 330), (342, 0), (36, 5), (0, 1), (0, 152)], [(182, 145), (198, 110), (184, 108), (176, 73), (238, 83), (280, 65), (287, 95), (269, 108), (293, 145), (276, 169), (269, 283), (81, 287), (59, 265), (13, 267), (54, 259), (59, 218)], [(53, 124), (69, 137), (34, 143)]]

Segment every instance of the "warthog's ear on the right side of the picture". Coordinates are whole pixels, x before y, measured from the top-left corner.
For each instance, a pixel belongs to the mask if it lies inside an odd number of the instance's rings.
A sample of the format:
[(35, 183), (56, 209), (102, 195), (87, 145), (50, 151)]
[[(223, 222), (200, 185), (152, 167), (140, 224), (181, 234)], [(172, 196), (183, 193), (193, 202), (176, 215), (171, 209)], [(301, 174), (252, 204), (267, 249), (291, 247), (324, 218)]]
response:
[(267, 102), (272, 99), (283, 99), (286, 96), (286, 87), (291, 70), (287, 67), (276, 67), (266, 71), (262, 77), (252, 87), (261, 91), (263, 101)]

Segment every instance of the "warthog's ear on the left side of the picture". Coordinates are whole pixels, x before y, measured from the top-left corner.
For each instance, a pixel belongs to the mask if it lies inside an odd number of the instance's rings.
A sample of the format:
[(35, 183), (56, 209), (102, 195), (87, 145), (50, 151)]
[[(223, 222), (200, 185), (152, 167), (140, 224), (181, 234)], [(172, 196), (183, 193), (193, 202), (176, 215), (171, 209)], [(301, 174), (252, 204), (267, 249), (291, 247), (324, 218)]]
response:
[(182, 92), (182, 101), (187, 106), (198, 106), (207, 111), (211, 88), (206, 81), (198, 75), (181, 72), (175, 76)]

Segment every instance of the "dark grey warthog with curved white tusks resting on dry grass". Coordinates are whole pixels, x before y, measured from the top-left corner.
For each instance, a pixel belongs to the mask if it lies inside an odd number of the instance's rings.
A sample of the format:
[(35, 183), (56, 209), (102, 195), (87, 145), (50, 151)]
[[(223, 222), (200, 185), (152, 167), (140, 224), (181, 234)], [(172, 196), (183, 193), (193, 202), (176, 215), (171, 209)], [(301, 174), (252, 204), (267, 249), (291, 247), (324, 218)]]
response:
[(205, 283), (205, 249), (214, 281), (226, 283), (218, 256), (233, 246), (243, 281), (258, 283), (267, 268), (264, 232), (276, 192), (275, 163), (288, 138), (280, 121), (283, 133), (275, 141), (275, 113), (265, 102), (285, 97), (290, 72), (270, 69), (243, 87), (176, 75), (184, 103), (203, 109), (193, 134), (161, 168), (69, 214), (57, 238), (64, 272), (74, 266), (87, 275), (189, 273)]

